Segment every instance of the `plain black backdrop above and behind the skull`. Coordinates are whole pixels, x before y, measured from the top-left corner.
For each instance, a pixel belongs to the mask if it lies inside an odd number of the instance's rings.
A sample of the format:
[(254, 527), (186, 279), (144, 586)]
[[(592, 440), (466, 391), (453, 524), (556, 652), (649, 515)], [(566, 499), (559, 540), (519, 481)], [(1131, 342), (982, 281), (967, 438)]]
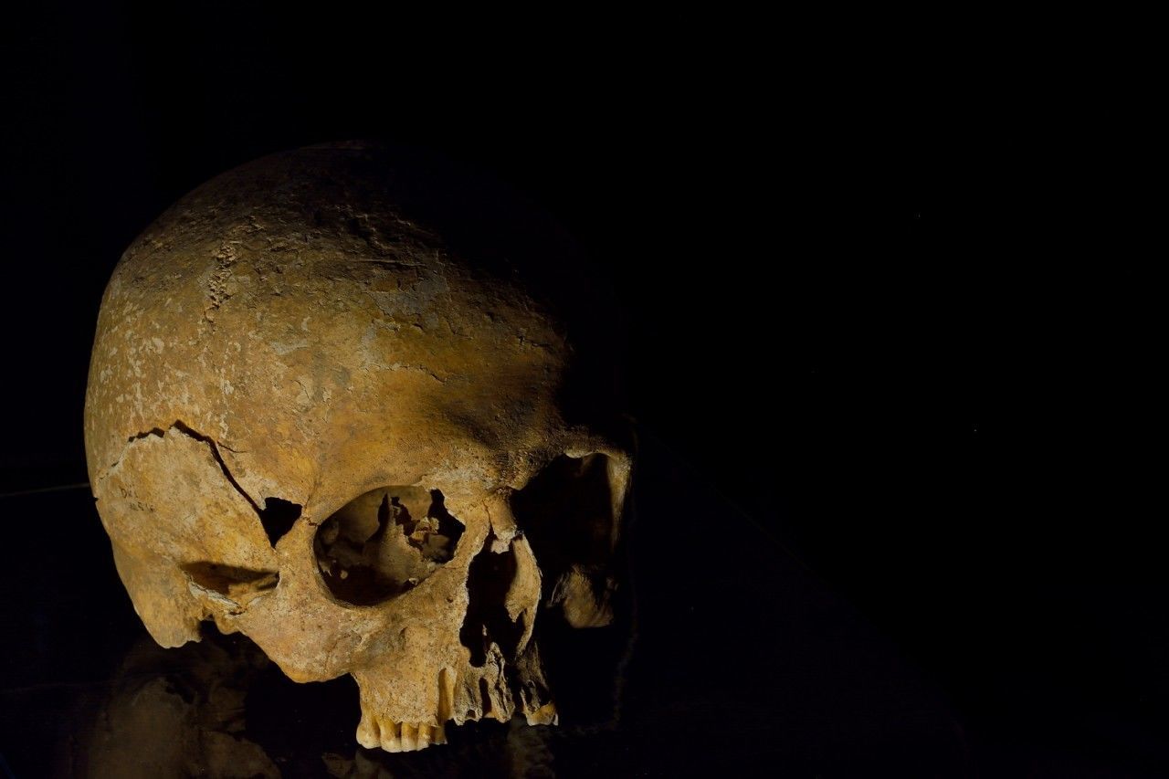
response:
[[(11, 21), (6, 491), (84, 481), (94, 324), (138, 232), (255, 157), (386, 137), (514, 186), (608, 271), (630, 409), (676, 463), (659, 485), (719, 496), (728, 518), (694, 532), (725, 540), (720, 566), (739, 533), (802, 561), (938, 690), (964, 757), (925, 773), (1165, 767), (1154, 285), (1037, 120), (1042, 78), (846, 61), (746, 20), (423, 35), (334, 11)], [(11, 501), (6, 550), (48, 532), (65, 571), (94, 553)], [(779, 608), (763, 581), (724, 597)]]

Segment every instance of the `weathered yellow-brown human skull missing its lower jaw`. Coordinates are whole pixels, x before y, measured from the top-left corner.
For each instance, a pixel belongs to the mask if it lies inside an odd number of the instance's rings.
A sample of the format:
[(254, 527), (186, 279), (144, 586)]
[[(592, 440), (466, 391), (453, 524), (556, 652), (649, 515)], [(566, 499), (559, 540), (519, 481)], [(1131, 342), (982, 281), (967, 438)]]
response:
[(159, 643), (213, 619), (296, 681), (352, 674), (358, 740), (400, 751), (555, 722), (538, 618), (609, 622), (630, 460), (567, 411), (573, 331), (414, 221), (435, 200), (385, 160), (270, 157), (148, 228), (102, 303), (85, 437)]

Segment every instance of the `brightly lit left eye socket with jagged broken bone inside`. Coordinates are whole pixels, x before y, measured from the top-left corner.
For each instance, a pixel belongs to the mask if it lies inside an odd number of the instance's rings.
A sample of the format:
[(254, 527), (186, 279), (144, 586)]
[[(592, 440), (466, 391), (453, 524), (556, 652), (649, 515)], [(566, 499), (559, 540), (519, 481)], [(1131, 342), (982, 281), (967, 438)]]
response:
[(317, 529), (313, 549), (330, 592), (372, 606), (410, 590), (455, 556), (463, 524), (443, 494), (421, 487), (381, 487), (333, 512)]

